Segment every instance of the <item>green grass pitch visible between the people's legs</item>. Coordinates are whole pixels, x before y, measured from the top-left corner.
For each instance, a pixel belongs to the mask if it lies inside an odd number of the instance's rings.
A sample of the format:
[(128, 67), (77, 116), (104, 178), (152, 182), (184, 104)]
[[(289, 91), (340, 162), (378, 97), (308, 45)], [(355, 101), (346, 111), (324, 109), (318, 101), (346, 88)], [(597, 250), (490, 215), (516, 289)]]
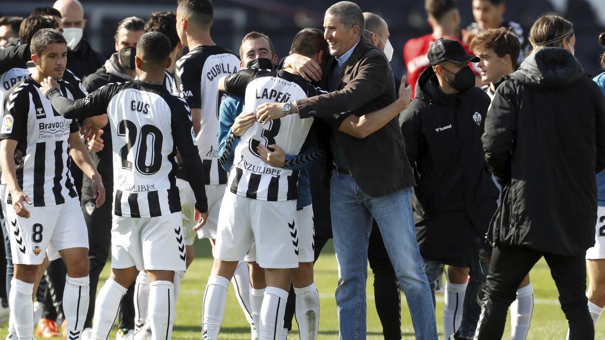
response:
[[(208, 273), (212, 266), (208, 241), (196, 241), (197, 257), (181, 284), (180, 296), (177, 301), (177, 319), (174, 325), (173, 339), (201, 339), (201, 306), (203, 293), (206, 287)], [(382, 327), (376, 315), (373, 299), (373, 286), (371, 270), (368, 268), (368, 339), (382, 339)], [(100, 280), (103, 284), (109, 275), (109, 263), (105, 267)], [(531, 281), (534, 286), (534, 313), (529, 329), (528, 339), (564, 339), (567, 332), (567, 322), (561, 312), (557, 299), (557, 289), (552, 281), (548, 266), (541, 260), (531, 272)], [(321, 257), (315, 264), (315, 282), (321, 296), (321, 316), (319, 319), (319, 339), (338, 339), (338, 319), (336, 317), (336, 303), (334, 291), (337, 283), (336, 258), (331, 243), (327, 244)], [(437, 327), (440, 339), (443, 338), (442, 328), (443, 296), (437, 295)], [(402, 296), (402, 333), (404, 339), (414, 339), (414, 330), (411, 324), (410, 313)], [(0, 325), (0, 338), (7, 333), (7, 324)], [(115, 328), (110, 339), (115, 339)], [(240, 305), (235, 299), (233, 287), (229, 287), (227, 295), (227, 309), (223, 319), (220, 333), (221, 339), (250, 339), (250, 328), (244, 318)], [(290, 331), (289, 339), (298, 339), (295, 329)], [(58, 339), (58, 338), (57, 338)], [(503, 339), (510, 339), (509, 319)], [(595, 339), (605, 339), (605, 321), (601, 321), (595, 333)]]

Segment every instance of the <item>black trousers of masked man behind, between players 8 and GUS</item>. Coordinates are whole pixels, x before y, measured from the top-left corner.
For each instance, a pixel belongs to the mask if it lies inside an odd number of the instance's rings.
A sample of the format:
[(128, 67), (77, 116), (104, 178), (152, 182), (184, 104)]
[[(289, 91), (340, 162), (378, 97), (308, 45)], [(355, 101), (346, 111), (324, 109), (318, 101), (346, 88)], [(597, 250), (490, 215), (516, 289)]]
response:
[[(92, 201), (92, 198), (82, 198), (82, 213), (88, 227), (88, 260), (90, 260), (90, 303), (88, 304), (88, 313), (84, 327), (92, 327), (94, 306), (97, 296), (97, 286), (99, 285), (99, 275), (103, 271), (103, 267), (107, 263), (107, 258), (111, 249), (111, 216), (113, 208), (113, 197), (111, 196), (110, 186), (105, 186), (106, 195), (105, 203), (100, 208), (94, 208), (87, 203)], [(94, 206), (94, 205), (93, 205)], [(122, 303), (120, 304), (119, 312), (120, 329), (134, 329), (134, 283), (128, 287), (128, 291)]]

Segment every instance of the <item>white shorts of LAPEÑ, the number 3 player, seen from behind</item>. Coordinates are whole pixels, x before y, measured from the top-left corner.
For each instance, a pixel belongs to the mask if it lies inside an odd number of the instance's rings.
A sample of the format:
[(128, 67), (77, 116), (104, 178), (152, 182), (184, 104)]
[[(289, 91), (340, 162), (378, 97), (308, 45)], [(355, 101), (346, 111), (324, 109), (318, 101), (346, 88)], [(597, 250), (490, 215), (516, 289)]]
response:
[(243, 260), (255, 242), (259, 266), (296, 268), (299, 253), (297, 224), (296, 200), (253, 200), (226, 191), (223, 209), (218, 216), (214, 258)]

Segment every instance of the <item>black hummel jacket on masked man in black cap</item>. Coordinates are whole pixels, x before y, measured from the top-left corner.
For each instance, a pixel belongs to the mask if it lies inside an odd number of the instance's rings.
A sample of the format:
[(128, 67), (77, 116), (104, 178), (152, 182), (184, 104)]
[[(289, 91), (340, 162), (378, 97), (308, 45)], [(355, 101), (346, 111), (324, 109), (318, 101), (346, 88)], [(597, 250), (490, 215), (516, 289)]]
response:
[(405, 152), (414, 169), (414, 219), (424, 258), (468, 266), (473, 237), (482, 237), (497, 206), (498, 189), (481, 143), (489, 97), (478, 87), (444, 94), (433, 68), (416, 85), (401, 114)]

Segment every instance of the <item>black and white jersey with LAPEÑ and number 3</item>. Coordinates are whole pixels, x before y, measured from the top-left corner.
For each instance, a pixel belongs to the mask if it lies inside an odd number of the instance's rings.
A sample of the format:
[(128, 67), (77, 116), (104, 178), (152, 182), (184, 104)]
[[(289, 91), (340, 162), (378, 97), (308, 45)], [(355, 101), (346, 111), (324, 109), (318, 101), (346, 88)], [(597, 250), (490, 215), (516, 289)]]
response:
[[(324, 94), (301, 76), (284, 70), (247, 68), (225, 79), (228, 93), (244, 94), (243, 112), (256, 113), (258, 105), (267, 102), (289, 103), (292, 100)], [(266, 125), (255, 122), (235, 146), (234, 168), (227, 187), (237, 195), (266, 201), (298, 198), (298, 170), (275, 168), (260, 159), (259, 145), (278, 145), (288, 155), (300, 152), (313, 119), (300, 119), (296, 114), (270, 120)]]

